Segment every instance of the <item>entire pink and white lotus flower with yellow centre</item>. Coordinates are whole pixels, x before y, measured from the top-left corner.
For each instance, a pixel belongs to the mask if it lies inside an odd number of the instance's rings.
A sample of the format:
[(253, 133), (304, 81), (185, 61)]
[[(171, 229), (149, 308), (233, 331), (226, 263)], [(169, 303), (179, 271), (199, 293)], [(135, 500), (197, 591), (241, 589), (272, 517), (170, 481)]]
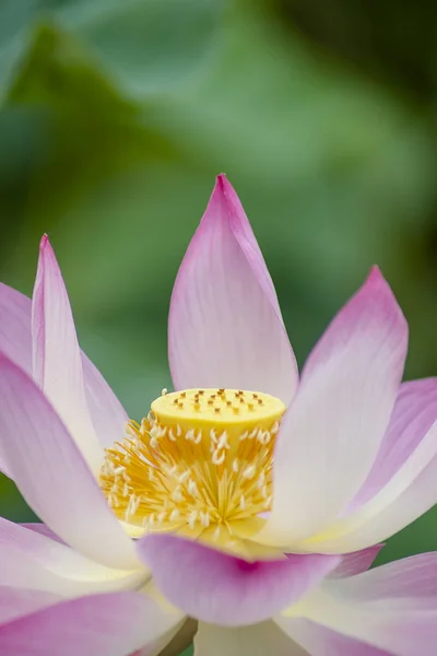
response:
[(196, 631), (197, 656), (435, 654), (437, 555), (366, 572), (437, 496), (437, 383), (401, 385), (378, 269), (298, 380), (220, 176), (172, 298), (178, 391), (139, 424), (80, 351), (47, 237), (32, 302), (0, 305), (0, 464), (44, 522), (0, 520), (0, 653), (145, 656)]

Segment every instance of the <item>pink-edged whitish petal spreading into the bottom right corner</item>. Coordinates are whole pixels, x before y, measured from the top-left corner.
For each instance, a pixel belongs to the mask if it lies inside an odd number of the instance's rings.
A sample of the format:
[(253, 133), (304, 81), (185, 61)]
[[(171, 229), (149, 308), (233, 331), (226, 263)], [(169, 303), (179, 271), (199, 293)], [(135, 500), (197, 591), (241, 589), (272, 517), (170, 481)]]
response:
[[(397, 656), (434, 656), (437, 553), (390, 563), (351, 578), (327, 581), (284, 614), (309, 619)], [(279, 622), (282, 628), (286, 625), (285, 620)], [(293, 629), (290, 634), (299, 637)], [(324, 652), (319, 653), (324, 656)]]

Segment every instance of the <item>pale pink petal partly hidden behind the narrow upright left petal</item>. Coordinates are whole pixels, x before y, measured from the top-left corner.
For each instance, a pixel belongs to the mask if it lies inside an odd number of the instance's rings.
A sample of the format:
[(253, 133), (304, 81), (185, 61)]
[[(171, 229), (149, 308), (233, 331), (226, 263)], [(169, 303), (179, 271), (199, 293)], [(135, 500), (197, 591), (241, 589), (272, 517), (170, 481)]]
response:
[[(0, 283), (0, 352), (32, 375), (31, 315), (31, 298)], [(101, 443), (109, 446), (123, 435), (128, 415), (83, 351), (81, 358), (86, 401), (94, 429)]]

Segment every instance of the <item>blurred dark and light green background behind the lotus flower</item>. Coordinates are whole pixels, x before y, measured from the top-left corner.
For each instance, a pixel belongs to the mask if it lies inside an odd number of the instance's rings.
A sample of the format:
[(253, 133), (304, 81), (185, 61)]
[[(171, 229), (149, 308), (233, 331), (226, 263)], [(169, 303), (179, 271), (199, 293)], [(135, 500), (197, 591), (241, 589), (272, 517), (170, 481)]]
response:
[[(170, 387), (173, 281), (224, 171), (299, 363), (377, 262), (437, 372), (436, 16), (424, 1), (1, 0), (0, 269), (47, 232), (129, 413)], [(31, 517), (0, 480), (0, 512)], [(435, 549), (435, 511), (380, 561)]]

